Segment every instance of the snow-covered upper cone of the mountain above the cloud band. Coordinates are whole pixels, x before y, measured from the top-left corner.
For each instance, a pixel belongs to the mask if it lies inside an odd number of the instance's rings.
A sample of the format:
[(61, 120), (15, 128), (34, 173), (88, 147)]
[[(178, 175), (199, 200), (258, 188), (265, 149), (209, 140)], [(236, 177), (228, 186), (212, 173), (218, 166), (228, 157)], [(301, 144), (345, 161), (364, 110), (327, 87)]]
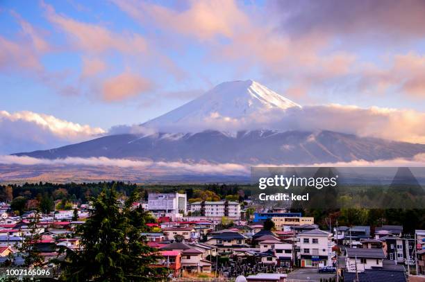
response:
[[(167, 114), (145, 123), (148, 127), (167, 128), (183, 125), (212, 125), (215, 122), (238, 123), (267, 112), (301, 108), (253, 80), (223, 82), (205, 94)], [(210, 129), (210, 128), (205, 128)]]

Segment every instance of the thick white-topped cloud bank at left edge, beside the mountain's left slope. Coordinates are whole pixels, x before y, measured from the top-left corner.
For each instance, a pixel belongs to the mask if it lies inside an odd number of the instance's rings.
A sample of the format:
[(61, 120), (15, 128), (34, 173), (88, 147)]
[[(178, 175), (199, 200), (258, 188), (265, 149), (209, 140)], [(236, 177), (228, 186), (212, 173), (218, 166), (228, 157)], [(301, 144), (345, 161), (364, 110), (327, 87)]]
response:
[(0, 111), (0, 152), (46, 150), (93, 139), (105, 133), (99, 127), (64, 121), (35, 112)]

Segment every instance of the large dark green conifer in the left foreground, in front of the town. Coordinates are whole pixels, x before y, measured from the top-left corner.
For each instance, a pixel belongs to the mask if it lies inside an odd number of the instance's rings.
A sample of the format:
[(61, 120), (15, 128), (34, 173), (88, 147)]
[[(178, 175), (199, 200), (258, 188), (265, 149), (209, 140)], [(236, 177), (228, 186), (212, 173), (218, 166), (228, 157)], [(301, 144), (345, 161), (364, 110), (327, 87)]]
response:
[(143, 209), (132, 209), (138, 200), (133, 193), (120, 208), (117, 192), (103, 188), (93, 199), (94, 211), (77, 229), (81, 250), (65, 251), (65, 261), (57, 261), (65, 281), (153, 281), (163, 279), (165, 268), (151, 267), (161, 257), (158, 250), (144, 243), (145, 222), (150, 220)]

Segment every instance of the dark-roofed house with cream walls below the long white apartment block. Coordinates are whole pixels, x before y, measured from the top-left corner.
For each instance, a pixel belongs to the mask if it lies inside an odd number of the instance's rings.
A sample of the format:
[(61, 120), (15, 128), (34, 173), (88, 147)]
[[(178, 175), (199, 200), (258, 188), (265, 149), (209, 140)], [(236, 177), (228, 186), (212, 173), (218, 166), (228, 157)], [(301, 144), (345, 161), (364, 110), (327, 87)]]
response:
[(207, 238), (206, 243), (217, 247), (217, 252), (221, 255), (233, 254), (241, 248), (249, 247), (246, 236), (228, 229), (209, 233)]

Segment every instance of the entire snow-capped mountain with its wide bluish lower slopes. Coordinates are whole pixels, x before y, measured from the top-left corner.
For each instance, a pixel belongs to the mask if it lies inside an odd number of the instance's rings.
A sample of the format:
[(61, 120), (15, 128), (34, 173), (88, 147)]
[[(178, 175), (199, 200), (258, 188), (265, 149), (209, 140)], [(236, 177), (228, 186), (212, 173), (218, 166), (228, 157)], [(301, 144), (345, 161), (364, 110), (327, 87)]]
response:
[[(319, 164), (412, 158), (425, 152), (422, 144), (324, 130), (316, 126), (322, 123), (316, 122), (319, 118), (315, 116), (304, 122), (308, 128), (292, 128), (301, 123), (299, 117), (308, 112), (307, 107), (302, 108), (253, 80), (224, 82), (142, 125), (156, 129), (154, 133), (148, 130), (144, 134), (115, 134), (15, 155), (44, 159), (110, 157), (238, 164)], [(223, 130), (226, 125), (236, 130)]]

